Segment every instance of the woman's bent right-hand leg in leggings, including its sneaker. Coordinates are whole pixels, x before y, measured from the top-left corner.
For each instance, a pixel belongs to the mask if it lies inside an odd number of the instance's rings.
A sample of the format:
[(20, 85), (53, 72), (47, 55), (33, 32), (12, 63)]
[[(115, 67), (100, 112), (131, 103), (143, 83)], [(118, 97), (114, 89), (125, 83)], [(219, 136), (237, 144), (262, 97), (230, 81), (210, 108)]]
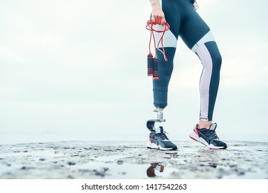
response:
[(185, 17), (181, 21), (180, 36), (195, 52), (203, 65), (200, 77), (199, 124), (189, 136), (211, 149), (225, 149), (227, 144), (218, 139), (217, 124), (212, 123), (214, 105), (220, 81), (221, 56), (209, 27), (194, 10), (190, 1), (185, 1)]

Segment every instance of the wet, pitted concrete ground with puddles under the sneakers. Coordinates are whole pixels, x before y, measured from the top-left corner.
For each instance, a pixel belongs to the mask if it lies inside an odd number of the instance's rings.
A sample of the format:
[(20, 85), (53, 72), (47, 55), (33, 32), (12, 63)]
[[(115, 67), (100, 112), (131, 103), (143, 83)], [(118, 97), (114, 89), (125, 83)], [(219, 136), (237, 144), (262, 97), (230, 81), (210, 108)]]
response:
[(175, 143), (167, 152), (146, 142), (0, 145), (0, 179), (268, 179), (268, 143), (227, 141), (227, 150)]

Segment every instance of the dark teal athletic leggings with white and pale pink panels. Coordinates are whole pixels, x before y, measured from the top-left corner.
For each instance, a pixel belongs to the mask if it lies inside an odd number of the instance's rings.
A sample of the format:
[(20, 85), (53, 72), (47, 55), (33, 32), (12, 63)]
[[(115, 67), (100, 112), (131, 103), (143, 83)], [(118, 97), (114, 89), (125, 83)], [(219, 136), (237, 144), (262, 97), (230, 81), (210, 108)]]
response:
[[(167, 106), (167, 90), (172, 76), (176, 44), (178, 37), (181, 37), (187, 47), (198, 55), (203, 65), (199, 83), (200, 120), (212, 121), (222, 61), (213, 34), (194, 9), (192, 0), (160, 0), (160, 3), (170, 29), (165, 32), (163, 39), (167, 61), (161, 52), (156, 51), (159, 80), (153, 81), (154, 105), (156, 108)], [(161, 34), (154, 35), (158, 42)]]

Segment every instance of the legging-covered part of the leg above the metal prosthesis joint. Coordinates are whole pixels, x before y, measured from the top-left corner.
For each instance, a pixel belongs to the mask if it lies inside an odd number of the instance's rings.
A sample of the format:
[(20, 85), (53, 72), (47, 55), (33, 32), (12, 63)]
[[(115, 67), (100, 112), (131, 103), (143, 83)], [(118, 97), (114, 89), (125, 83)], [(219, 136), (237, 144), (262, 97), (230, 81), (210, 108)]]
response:
[[(180, 12), (177, 8), (181, 8), (182, 1), (169, 0), (161, 1), (162, 10), (165, 14), (165, 20), (169, 23), (170, 29), (165, 32), (163, 37), (163, 47), (167, 61), (163, 58), (163, 54), (157, 50), (156, 56), (158, 58), (158, 74), (159, 80), (153, 81), (154, 90), (154, 105), (156, 108), (165, 108), (167, 106), (167, 92), (169, 80), (172, 76), (173, 60), (176, 52), (176, 45), (178, 39), (178, 32), (180, 30)], [(161, 28), (161, 26), (158, 26)], [(156, 43), (158, 43), (161, 34), (155, 33)], [(161, 47), (162, 45), (160, 45)]]

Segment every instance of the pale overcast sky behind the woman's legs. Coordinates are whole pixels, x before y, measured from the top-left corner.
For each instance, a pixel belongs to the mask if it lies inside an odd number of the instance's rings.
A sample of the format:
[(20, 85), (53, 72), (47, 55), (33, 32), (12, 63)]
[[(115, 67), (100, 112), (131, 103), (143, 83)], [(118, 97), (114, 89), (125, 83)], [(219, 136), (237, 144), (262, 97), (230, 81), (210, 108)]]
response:
[[(198, 6), (223, 57), (218, 136), (268, 141), (268, 2)], [(145, 123), (156, 119), (147, 77), (149, 18), (148, 0), (1, 0), (0, 143), (29, 133), (147, 141)], [(169, 139), (188, 140), (198, 121), (201, 70), (179, 39), (164, 112)]]

